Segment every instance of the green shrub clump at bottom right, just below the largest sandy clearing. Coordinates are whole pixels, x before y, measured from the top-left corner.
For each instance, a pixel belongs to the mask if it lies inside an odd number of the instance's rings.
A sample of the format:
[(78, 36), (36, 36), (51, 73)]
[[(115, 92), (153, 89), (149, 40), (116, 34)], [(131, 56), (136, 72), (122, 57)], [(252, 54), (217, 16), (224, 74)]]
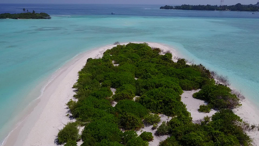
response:
[(212, 116), (212, 121), (202, 124), (176, 117), (168, 123), (171, 137), (160, 146), (250, 146), (251, 140), (239, 126), (240, 122), (240, 117), (231, 110), (220, 110)]

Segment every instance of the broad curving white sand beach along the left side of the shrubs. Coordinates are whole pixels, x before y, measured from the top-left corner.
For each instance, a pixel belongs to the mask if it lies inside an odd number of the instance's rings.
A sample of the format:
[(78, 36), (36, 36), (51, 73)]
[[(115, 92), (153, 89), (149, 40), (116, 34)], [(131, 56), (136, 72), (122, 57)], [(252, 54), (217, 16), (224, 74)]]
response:
[(54, 141), (58, 131), (70, 121), (66, 104), (75, 94), (72, 86), (77, 82), (78, 72), (88, 58), (102, 57), (104, 51), (114, 46), (87, 51), (60, 68), (46, 86), (37, 106), (13, 130), (3, 146), (56, 146)]

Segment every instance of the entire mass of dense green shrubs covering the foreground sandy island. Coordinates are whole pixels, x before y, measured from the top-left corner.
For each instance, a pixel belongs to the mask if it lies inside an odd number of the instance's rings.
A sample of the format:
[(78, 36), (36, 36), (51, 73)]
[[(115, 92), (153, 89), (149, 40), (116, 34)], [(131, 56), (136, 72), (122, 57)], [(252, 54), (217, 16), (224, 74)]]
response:
[[(152, 135), (138, 136), (135, 130), (144, 124), (155, 129), (158, 114), (173, 117), (156, 130), (156, 135), (170, 136), (160, 146), (248, 146), (250, 139), (239, 125), (242, 121), (231, 111), (239, 100), (230, 89), (215, 85), (204, 66), (187, 65), (185, 59), (173, 62), (172, 54), (160, 52), (146, 43), (129, 43), (105, 51), (102, 58), (87, 59), (73, 86), (77, 100), (67, 104), (77, 123), (85, 126), (82, 146), (148, 146)], [(116, 89), (115, 95), (110, 88)], [(211, 105), (201, 109), (219, 110), (211, 120), (192, 123), (180, 95), (193, 89), (201, 89), (195, 98)], [(133, 101), (135, 96), (139, 99)], [(113, 101), (118, 102), (115, 107)], [(71, 132), (66, 127), (61, 131), (63, 137)], [(76, 140), (63, 138), (60, 143), (73, 145)]]

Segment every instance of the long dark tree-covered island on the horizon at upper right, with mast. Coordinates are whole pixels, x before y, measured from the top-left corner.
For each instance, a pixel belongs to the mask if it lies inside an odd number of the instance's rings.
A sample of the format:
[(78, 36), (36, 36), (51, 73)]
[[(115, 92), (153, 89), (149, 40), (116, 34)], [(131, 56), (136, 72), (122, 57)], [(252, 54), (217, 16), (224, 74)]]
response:
[(176, 10), (207, 10), (207, 11), (259, 11), (259, 2), (257, 4), (244, 5), (237, 3), (235, 5), (189, 5), (183, 4), (181, 6), (161, 6), (160, 9), (176, 9)]

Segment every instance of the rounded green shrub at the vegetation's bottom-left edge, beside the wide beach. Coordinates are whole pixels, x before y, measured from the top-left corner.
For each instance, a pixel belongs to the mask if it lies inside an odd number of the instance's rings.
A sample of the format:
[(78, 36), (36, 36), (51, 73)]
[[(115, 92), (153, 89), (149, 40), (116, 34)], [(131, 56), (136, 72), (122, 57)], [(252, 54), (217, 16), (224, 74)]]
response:
[(69, 141), (78, 141), (80, 139), (78, 132), (79, 129), (77, 128), (76, 123), (68, 123), (62, 130), (58, 132), (58, 143), (64, 144)]

